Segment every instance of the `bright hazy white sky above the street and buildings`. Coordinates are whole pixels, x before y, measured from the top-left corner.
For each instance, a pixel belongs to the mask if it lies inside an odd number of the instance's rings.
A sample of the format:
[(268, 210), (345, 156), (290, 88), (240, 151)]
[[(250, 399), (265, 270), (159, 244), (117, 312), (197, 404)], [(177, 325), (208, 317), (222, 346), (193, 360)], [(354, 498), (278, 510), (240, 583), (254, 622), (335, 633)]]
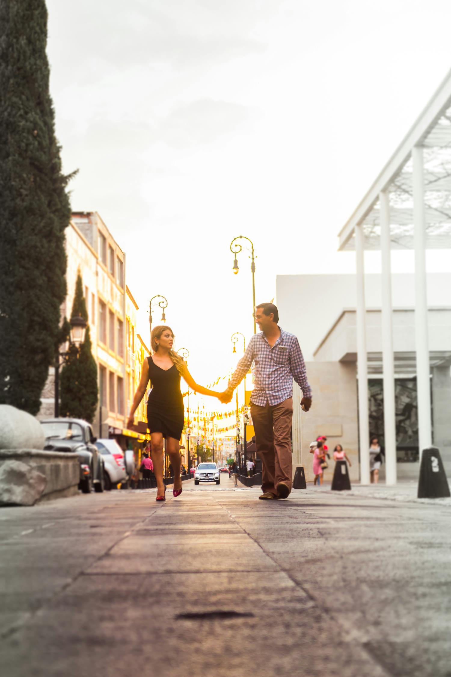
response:
[(72, 209), (98, 211), (126, 252), (145, 339), (145, 307), (164, 294), (208, 383), (233, 364), (231, 333), (252, 334), (235, 236), (254, 241), (257, 301), (277, 274), (354, 270), (337, 233), (451, 66), (450, 2), (47, 6), (57, 136), (64, 170), (80, 170)]

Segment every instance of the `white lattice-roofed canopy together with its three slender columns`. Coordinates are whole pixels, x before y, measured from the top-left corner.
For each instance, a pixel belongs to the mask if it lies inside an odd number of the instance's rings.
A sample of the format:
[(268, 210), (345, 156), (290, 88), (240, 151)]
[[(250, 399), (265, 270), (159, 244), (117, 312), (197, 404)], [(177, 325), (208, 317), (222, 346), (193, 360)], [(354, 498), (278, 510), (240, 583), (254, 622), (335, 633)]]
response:
[[(356, 333), (360, 449), (369, 438), (368, 332), (364, 250), (380, 249), (383, 414), (387, 484), (396, 483), (394, 315), (391, 250), (414, 250), (414, 357), (419, 450), (433, 443), (426, 248), (451, 247), (451, 71), (339, 233), (339, 249), (356, 251)], [(369, 459), (361, 454), (361, 480)]]

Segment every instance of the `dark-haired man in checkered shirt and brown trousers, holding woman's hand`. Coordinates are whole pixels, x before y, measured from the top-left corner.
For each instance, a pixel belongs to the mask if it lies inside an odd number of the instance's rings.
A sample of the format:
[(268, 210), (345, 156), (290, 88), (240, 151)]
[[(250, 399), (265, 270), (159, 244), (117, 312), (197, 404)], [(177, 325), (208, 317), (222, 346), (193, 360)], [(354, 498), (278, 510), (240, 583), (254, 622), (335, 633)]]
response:
[(262, 459), (262, 498), (287, 498), (291, 492), (291, 422), (293, 378), (302, 389), (301, 406), (308, 412), (312, 391), (298, 339), (279, 327), (279, 312), (273, 303), (256, 307), (260, 334), (254, 334), (233, 374), (222, 402), (231, 401), (233, 390), (255, 363), (251, 415), (257, 452)]

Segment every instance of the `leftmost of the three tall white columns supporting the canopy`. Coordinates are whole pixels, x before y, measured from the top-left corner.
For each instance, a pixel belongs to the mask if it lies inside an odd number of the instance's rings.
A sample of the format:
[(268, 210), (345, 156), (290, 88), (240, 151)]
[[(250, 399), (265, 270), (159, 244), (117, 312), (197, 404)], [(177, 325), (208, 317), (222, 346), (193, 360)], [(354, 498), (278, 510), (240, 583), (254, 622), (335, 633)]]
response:
[(370, 483), (369, 423), (368, 423), (368, 375), (366, 372), (366, 310), (365, 310), (365, 264), (363, 226), (356, 226), (356, 329), (358, 370), (358, 428), (360, 448), (360, 483)]

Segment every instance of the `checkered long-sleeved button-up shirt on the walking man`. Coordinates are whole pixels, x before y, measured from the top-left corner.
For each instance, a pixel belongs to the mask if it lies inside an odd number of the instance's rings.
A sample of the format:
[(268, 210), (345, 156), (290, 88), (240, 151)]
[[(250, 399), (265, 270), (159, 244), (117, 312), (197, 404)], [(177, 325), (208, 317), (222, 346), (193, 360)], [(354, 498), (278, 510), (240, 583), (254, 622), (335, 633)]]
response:
[(293, 397), (293, 378), (300, 385), (304, 397), (312, 397), (304, 357), (293, 334), (281, 329), (281, 335), (272, 348), (263, 332), (254, 334), (229, 380), (229, 390), (235, 389), (243, 380), (252, 362), (255, 362), (252, 403), (260, 407), (266, 406), (266, 403), (275, 406)]

